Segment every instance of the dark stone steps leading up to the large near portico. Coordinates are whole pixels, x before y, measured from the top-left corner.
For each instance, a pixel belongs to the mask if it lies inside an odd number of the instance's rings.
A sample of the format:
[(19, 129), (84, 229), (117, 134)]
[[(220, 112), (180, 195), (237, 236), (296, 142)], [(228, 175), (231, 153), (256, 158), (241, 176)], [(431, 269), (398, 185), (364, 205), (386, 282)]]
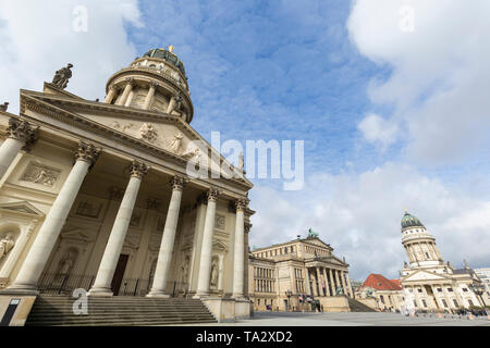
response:
[(86, 325), (179, 325), (216, 323), (206, 306), (196, 299), (114, 296), (88, 298), (88, 314), (73, 313), (75, 298), (40, 295), (25, 323), (26, 326)]

